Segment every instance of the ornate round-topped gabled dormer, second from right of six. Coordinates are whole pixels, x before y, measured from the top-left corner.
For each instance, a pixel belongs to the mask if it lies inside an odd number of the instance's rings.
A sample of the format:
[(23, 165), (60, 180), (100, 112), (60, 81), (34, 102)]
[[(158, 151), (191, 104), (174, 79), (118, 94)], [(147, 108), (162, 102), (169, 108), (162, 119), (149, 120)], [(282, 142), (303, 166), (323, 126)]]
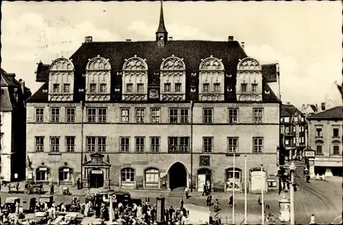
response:
[(199, 66), (199, 100), (224, 101), (224, 64), (213, 56)]

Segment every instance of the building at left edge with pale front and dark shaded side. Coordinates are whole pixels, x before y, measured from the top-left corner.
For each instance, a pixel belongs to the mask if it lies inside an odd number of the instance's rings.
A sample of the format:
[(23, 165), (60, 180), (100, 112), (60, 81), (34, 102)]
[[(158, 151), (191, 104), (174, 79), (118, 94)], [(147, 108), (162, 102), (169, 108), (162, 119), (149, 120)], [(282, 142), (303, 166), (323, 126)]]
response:
[(25, 180), (25, 100), (31, 95), (23, 80), (1, 69), (0, 176), (3, 180)]

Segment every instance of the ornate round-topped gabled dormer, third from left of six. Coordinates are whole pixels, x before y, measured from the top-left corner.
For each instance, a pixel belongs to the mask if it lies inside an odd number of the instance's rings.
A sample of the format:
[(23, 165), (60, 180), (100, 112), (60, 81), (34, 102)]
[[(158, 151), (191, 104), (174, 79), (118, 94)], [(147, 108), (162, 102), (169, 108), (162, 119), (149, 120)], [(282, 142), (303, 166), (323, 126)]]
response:
[(134, 56), (123, 64), (122, 99), (124, 101), (147, 100), (147, 63)]

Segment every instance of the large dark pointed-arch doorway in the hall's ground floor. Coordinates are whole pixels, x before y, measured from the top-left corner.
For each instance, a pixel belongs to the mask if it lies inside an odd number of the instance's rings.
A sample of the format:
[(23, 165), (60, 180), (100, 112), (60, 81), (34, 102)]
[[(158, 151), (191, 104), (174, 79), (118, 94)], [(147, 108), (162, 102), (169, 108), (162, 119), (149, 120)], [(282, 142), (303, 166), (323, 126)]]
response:
[(169, 188), (187, 187), (187, 170), (182, 163), (174, 163), (169, 169)]

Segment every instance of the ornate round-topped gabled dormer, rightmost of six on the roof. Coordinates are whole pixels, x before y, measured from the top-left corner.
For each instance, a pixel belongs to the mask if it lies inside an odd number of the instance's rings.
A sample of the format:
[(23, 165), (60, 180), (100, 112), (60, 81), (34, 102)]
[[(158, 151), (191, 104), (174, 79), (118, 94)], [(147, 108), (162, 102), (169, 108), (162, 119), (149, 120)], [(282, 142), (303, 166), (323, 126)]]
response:
[(254, 58), (244, 58), (237, 65), (237, 100), (241, 102), (262, 101), (261, 64)]

